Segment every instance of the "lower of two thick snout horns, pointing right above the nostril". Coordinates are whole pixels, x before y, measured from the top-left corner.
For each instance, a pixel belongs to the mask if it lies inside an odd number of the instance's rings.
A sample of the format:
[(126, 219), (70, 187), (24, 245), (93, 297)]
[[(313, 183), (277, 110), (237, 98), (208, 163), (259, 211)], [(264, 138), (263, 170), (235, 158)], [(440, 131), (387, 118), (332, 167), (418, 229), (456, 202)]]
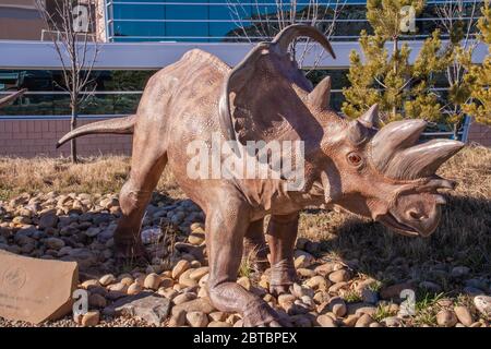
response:
[(384, 173), (391, 178), (410, 180), (431, 177), (463, 146), (464, 143), (452, 140), (432, 140), (411, 146), (397, 154)]

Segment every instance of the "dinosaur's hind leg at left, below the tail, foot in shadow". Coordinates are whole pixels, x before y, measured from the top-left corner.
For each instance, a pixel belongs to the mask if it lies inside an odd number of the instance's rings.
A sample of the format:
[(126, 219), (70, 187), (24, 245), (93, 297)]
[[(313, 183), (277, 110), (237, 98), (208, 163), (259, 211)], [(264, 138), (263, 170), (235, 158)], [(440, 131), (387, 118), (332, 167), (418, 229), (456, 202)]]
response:
[(167, 163), (166, 152), (149, 149), (152, 137), (148, 141), (133, 142), (130, 177), (119, 195), (122, 216), (115, 231), (117, 264), (141, 263), (146, 258), (140, 236), (142, 219)]

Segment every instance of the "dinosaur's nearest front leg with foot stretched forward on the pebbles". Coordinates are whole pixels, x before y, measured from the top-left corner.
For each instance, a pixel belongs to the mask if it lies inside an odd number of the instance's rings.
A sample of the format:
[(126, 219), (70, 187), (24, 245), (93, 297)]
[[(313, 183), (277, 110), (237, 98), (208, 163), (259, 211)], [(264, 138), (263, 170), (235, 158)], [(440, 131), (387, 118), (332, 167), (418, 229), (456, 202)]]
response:
[(244, 326), (278, 324), (277, 313), (263, 299), (236, 282), (250, 222), (248, 205), (229, 196), (212, 207), (206, 213), (207, 285), (212, 303), (223, 312), (241, 313)]

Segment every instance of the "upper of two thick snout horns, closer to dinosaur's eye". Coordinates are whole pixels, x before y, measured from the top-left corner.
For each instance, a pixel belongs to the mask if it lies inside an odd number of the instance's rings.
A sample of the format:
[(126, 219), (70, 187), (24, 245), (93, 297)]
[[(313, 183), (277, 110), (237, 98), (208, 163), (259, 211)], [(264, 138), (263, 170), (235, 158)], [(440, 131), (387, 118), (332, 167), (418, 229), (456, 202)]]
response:
[(385, 172), (391, 159), (415, 145), (426, 127), (424, 120), (394, 121), (383, 127), (371, 142), (373, 165)]

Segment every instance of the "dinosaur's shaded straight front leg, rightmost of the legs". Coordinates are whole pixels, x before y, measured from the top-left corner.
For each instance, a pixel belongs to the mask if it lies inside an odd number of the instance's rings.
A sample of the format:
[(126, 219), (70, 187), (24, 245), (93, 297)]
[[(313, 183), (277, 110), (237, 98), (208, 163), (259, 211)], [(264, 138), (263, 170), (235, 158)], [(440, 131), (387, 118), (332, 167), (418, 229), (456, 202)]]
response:
[(297, 279), (294, 265), (294, 248), (298, 231), (298, 213), (285, 216), (272, 215), (267, 226), (267, 243), (271, 250), (270, 290), (280, 294), (288, 292)]

